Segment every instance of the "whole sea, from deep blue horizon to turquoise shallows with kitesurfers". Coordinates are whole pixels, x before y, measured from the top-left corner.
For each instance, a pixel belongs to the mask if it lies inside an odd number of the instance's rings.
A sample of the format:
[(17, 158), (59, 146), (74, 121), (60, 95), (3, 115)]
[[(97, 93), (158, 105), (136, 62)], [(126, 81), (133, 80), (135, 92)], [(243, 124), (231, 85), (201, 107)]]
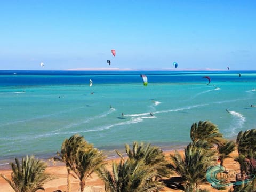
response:
[(134, 141), (182, 149), (199, 121), (235, 140), (256, 127), (255, 114), (256, 71), (4, 70), (0, 169), (26, 155), (51, 158), (74, 134), (108, 158)]

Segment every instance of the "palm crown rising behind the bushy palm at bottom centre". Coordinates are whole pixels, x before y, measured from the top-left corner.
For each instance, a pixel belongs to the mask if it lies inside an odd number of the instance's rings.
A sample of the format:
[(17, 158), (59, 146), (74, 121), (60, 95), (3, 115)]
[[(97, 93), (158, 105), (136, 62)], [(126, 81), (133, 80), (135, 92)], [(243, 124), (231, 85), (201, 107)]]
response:
[[(169, 163), (166, 161), (165, 155), (159, 147), (151, 146), (150, 143), (145, 145), (143, 142), (139, 144), (137, 141), (134, 141), (132, 149), (129, 145), (125, 145), (125, 151), (129, 159), (133, 159), (134, 161), (142, 160), (149, 166), (154, 165), (160, 178), (168, 177), (171, 173), (170, 169), (166, 169)], [(116, 153), (124, 159), (119, 151), (116, 151)]]

